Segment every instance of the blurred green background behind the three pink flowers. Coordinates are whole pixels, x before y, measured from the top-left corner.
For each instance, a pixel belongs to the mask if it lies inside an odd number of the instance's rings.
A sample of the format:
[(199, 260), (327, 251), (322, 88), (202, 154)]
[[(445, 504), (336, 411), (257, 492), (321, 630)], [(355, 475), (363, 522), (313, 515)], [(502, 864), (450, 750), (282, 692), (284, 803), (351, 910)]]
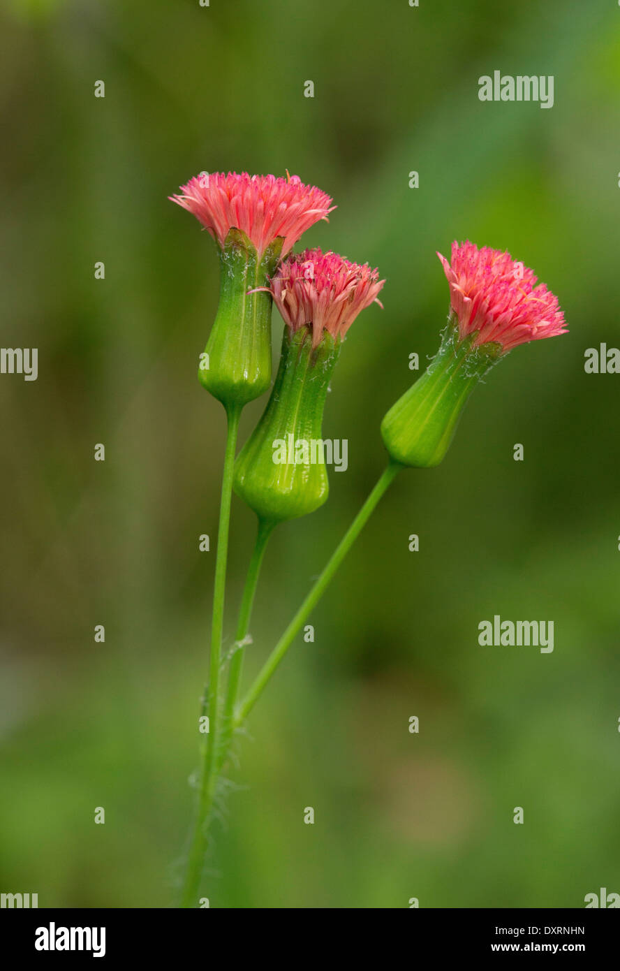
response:
[[(246, 674), (382, 469), (409, 353), (424, 366), (438, 347), (435, 251), (508, 249), (571, 333), (511, 353), (441, 466), (388, 493), (315, 642), (297, 639), (252, 714), (204, 893), (398, 908), (620, 891), (620, 376), (583, 370), (586, 348), (620, 346), (620, 10), (6, 0), (1, 28), (2, 344), (37, 347), (39, 379), (0, 377), (0, 889), (175, 903), (214, 565), (198, 536), (214, 550), (225, 423), (196, 380), (215, 252), (167, 196), (202, 170), (288, 169), (338, 204), (304, 244), (378, 266), (385, 310), (347, 337), (324, 433), (348, 439), (349, 468), (277, 530)], [(496, 68), (553, 75), (554, 107), (478, 101)], [(228, 645), (254, 538), (233, 514)], [(553, 619), (554, 653), (480, 648), (494, 614)]]

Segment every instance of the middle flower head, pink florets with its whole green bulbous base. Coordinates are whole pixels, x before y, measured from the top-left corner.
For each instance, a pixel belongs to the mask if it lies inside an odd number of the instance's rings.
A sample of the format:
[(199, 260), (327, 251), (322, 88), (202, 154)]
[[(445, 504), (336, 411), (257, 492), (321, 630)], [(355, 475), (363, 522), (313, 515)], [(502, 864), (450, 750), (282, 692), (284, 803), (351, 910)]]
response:
[(270, 288), (285, 324), (277, 379), (235, 473), (235, 491), (259, 519), (305, 516), (327, 499), (325, 397), (344, 335), (382, 285), (376, 270), (333, 252), (280, 265)]

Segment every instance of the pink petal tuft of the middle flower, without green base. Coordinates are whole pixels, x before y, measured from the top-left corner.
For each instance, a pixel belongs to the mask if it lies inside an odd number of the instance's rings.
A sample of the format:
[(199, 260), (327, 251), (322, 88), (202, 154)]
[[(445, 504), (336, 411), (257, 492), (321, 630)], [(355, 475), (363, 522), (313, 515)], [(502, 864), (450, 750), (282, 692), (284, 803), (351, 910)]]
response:
[(377, 294), (385, 283), (368, 263), (350, 263), (335, 252), (305, 250), (280, 264), (269, 287), (277, 309), (293, 333), (308, 324), (312, 347), (327, 330), (344, 334), (365, 307), (382, 303)]

